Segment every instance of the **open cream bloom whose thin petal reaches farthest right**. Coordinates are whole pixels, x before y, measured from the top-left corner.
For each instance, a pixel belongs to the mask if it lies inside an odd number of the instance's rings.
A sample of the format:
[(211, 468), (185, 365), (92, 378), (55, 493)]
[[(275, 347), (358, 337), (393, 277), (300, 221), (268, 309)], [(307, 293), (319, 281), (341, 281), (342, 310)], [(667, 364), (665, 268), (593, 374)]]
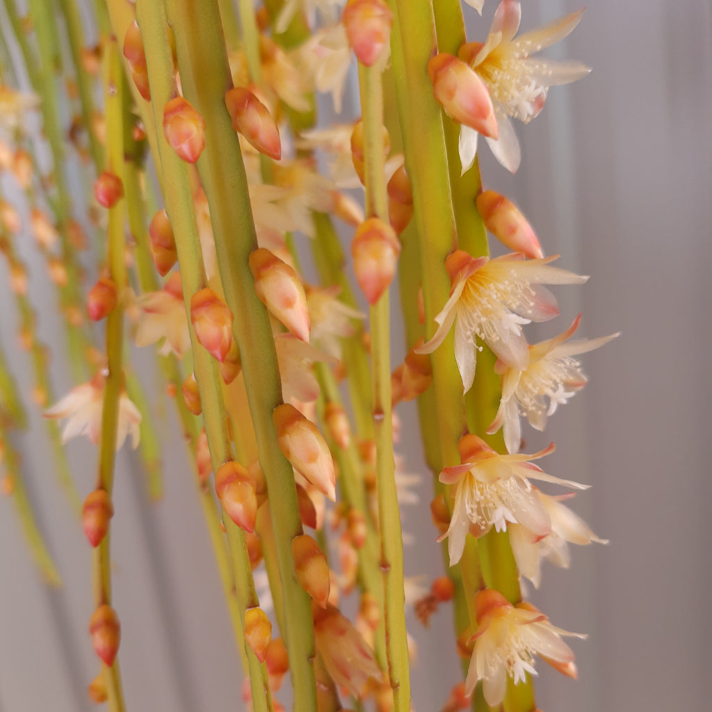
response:
[(617, 337), (617, 334), (611, 334), (565, 343), (580, 323), (579, 314), (564, 333), (530, 346), (529, 363), (524, 369), (501, 360), (496, 363), (495, 370), (502, 376), (502, 399), (487, 432), (493, 434), (503, 427), (508, 452), (519, 450), (520, 414), (534, 429), (541, 431), (557, 407), (584, 387), (587, 378), (574, 356), (597, 349)]

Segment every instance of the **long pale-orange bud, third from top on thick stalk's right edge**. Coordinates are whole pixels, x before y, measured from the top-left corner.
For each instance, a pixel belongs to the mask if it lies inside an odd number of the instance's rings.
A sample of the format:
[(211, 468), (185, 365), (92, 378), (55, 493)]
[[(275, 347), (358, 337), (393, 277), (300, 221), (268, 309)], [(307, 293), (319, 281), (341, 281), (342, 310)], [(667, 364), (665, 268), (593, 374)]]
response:
[(286, 459), (320, 492), (335, 501), (334, 461), (317, 426), (288, 403), (276, 407), (272, 419), (278, 445)]

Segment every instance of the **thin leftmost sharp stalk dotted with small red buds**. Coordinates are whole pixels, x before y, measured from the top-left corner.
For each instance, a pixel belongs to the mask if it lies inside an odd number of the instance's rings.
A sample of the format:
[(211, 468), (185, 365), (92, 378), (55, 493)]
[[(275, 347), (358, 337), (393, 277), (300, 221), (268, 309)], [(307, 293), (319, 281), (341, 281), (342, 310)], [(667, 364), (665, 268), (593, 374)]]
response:
[[(106, 145), (107, 169), (118, 177), (123, 176), (123, 133), (121, 111), (121, 66), (115, 41), (105, 45), (104, 92), (105, 115), (108, 142)], [(128, 284), (125, 263), (124, 241), (124, 199), (119, 199), (109, 209), (108, 222), (108, 266), (109, 276), (115, 283), (117, 292)], [(119, 401), (124, 387), (123, 373), (123, 331), (124, 313), (119, 303), (106, 318), (106, 372), (104, 398), (99, 439), (99, 472), (97, 486), (103, 488), (111, 498), (114, 484), (116, 453), (116, 432), (119, 422)], [(108, 532), (95, 549), (94, 559), (95, 604), (111, 605), (111, 550)], [(111, 712), (125, 709), (123, 690), (118, 671), (118, 659), (111, 666), (102, 664), (104, 681)]]

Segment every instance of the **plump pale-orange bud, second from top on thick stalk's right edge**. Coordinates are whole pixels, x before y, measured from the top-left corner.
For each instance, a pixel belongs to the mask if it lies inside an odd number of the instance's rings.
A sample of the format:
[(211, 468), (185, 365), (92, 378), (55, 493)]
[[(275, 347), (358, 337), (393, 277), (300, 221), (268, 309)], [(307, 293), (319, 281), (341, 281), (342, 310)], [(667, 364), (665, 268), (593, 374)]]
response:
[(261, 302), (291, 333), (308, 343), (309, 308), (298, 274), (263, 247), (250, 255), (250, 269)]

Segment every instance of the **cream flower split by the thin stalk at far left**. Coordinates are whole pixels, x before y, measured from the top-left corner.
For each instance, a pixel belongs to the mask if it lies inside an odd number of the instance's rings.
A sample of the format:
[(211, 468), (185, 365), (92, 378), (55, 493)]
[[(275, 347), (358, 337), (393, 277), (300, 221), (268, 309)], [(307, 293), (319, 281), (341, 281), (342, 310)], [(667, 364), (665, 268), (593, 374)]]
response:
[[(104, 407), (104, 376), (98, 373), (88, 383), (83, 383), (70, 390), (63, 399), (46, 410), (44, 417), (51, 419), (66, 418), (62, 431), (62, 442), (66, 443), (77, 435), (86, 435), (97, 445), (101, 436), (101, 422)], [(119, 398), (119, 418), (116, 429), (116, 449), (124, 444), (127, 435), (131, 435), (131, 447), (138, 446), (141, 414), (122, 390)]]

